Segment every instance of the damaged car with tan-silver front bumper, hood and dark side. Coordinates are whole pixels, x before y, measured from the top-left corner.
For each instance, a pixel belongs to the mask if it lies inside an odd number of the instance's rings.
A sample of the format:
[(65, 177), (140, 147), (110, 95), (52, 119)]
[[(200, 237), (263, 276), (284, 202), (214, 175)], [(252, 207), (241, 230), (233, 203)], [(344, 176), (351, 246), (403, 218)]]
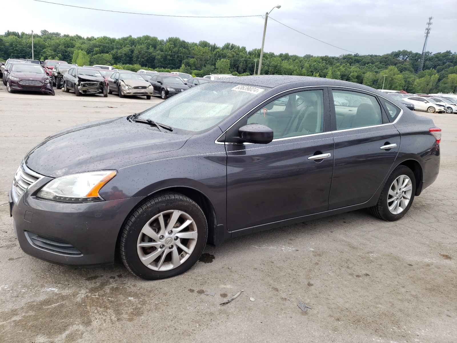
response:
[(133, 71), (116, 71), (108, 79), (108, 94), (117, 93), (120, 98), (126, 95), (146, 96), (150, 99), (154, 88), (143, 77)]

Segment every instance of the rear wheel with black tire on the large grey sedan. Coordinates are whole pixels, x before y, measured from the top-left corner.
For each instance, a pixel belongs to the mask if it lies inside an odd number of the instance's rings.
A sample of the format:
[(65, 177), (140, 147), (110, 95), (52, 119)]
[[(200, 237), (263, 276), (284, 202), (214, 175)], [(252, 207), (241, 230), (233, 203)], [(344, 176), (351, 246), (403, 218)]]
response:
[(386, 221), (402, 218), (413, 204), (416, 192), (414, 173), (407, 166), (397, 166), (388, 177), (371, 214)]

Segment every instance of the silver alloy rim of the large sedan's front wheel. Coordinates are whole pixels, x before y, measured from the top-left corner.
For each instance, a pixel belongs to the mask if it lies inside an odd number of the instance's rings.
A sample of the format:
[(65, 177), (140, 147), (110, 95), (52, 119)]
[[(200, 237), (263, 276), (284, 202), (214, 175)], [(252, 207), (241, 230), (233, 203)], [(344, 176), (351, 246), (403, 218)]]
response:
[(154, 271), (174, 269), (184, 263), (197, 244), (197, 225), (179, 210), (155, 215), (143, 226), (137, 242), (140, 261)]

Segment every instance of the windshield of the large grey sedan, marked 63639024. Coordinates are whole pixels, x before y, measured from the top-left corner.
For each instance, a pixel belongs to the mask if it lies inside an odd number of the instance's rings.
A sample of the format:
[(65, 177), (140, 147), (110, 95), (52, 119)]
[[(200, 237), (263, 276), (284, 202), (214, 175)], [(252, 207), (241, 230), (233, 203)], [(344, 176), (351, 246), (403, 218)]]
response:
[(260, 87), (208, 82), (160, 102), (138, 118), (195, 134), (211, 129), (263, 91)]

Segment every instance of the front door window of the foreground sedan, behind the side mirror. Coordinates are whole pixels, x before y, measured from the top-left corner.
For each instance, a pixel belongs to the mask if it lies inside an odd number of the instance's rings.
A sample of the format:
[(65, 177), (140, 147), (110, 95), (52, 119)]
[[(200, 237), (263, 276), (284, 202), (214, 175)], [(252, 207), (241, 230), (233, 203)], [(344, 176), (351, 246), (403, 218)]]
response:
[(273, 130), (273, 139), (324, 132), (324, 92), (301, 91), (276, 99), (252, 114), (248, 124)]

